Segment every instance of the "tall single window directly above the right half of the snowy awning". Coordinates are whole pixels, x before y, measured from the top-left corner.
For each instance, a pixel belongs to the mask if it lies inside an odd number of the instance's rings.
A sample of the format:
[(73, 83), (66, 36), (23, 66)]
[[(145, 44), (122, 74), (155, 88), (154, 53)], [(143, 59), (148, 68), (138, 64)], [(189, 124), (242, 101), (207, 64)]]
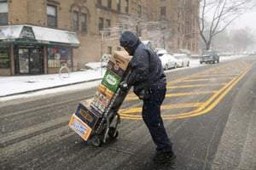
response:
[(47, 5), (47, 26), (50, 28), (57, 27), (57, 8), (52, 5)]

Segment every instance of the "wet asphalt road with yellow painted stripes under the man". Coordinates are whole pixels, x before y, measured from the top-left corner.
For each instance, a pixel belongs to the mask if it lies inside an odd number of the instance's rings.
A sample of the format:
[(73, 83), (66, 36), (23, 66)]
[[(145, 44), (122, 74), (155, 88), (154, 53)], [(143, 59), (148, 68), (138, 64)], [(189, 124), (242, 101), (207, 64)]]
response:
[[(177, 154), (175, 169), (256, 169), (256, 57), (167, 71), (162, 105)], [(127, 95), (119, 137), (95, 147), (67, 126), (79, 101), (96, 88), (0, 104), (1, 169), (172, 169), (155, 150), (141, 105)]]

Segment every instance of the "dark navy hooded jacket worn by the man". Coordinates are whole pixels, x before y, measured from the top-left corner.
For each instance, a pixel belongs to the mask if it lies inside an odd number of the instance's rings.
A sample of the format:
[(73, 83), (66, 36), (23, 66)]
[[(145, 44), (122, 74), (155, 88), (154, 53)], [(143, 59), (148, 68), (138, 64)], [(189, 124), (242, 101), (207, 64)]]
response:
[(127, 83), (134, 87), (135, 94), (138, 95), (143, 88), (166, 88), (166, 75), (157, 54), (131, 31), (121, 35), (120, 45), (131, 50), (131, 75)]

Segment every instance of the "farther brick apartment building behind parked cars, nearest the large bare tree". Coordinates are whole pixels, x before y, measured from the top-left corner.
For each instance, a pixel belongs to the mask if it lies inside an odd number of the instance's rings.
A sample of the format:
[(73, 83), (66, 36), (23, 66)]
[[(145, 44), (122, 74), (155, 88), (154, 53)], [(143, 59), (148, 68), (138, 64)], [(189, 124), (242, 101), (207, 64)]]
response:
[[(199, 14), (197, 0), (147, 1), (148, 18), (159, 23), (148, 29), (149, 39), (157, 40), (158, 48), (172, 53), (198, 54), (199, 31), (196, 20)], [(150, 12), (149, 12), (150, 11)]]

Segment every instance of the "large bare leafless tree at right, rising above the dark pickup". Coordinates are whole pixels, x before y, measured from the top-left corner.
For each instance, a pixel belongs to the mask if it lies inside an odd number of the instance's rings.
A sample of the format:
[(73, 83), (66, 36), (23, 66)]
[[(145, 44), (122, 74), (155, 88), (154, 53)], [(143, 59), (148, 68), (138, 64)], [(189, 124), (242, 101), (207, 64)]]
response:
[(208, 50), (213, 37), (224, 31), (241, 14), (254, 8), (256, 3), (254, 0), (200, 0), (200, 4), (197, 21), (202, 41)]

